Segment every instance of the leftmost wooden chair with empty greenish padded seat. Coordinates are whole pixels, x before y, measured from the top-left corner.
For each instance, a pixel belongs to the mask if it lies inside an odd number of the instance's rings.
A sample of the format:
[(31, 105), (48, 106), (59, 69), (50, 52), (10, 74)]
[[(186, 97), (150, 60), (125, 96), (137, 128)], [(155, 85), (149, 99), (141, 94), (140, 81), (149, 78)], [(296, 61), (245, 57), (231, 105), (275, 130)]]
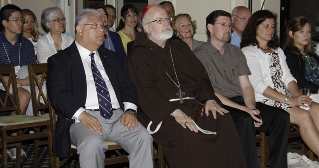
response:
[[(5, 84), (3, 76), (9, 78), (7, 85)], [(2, 148), (2, 166), (7, 168), (7, 147), (16, 146), (16, 168), (20, 168), (20, 155), (21, 155), (21, 142), (26, 140), (36, 141), (40, 138), (47, 138), (48, 142), (51, 143), (51, 133), (50, 129), (50, 120), (49, 118), (41, 116), (26, 116), (20, 115), (20, 106), (17, 92), (17, 82), (15, 78), (15, 70), (12, 63), (1, 65), (0, 68), (0, 82), (3, 84), (6, 99), (1, 101), (0, 111), (15, 111), (16, 115), (3, 116), (0, 117), (0, 134), (2, 137), (1, 148)], [(12, 96), (9, 93), (9, 87), (12, 86)], [(12, 107), (6, 107), (7, 99), (10, 99), (13, 103)], [(34, 133), (29, 134), (29, 130), (32, 130)], [(10, 136), (9, 133), (17, 133), (16, 136)], [(36, 144), (34, 146), (37, 146)], [(35, 151), (34, 153), (38, 152)], [(49, 156), (51, 156), (51, 147), (49, 146)], [(51, 157), (50, 157), (51, 159)], [(50, 163), (52, 163), (50, 161)], [(37, 158), (33, 157), (33, 167), (36, 167)]]

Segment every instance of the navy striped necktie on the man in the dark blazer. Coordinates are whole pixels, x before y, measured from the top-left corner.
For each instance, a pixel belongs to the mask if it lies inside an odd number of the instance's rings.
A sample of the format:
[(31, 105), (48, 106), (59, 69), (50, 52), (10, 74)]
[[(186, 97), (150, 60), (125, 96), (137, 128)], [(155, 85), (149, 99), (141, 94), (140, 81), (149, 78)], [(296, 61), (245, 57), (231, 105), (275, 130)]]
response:
[(100, 71), (96, 67), (96, 62), (94, 61), (94, 53), (91, 53), (90, 57), (91, 69), (93, 73), (94, 83), (96, 85), (96, 93), (100, 114), (103, 118), (110, 119), (113, 115), (110, 93), (107, 89), (106, 83), (103, 80)]

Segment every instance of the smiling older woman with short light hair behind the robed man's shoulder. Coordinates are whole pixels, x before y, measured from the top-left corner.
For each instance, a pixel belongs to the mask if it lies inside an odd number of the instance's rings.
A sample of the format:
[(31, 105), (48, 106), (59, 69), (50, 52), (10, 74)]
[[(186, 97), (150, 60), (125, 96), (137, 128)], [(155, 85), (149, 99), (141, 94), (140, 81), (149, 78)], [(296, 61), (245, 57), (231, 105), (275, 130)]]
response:
[(192, 21), (191, 16), (187, 13), (176, 15), (173, 18), (172, 28), (174, 34), (190, 46), (191, 51), (204, 43), (203, 41), (197, 41), (192, 38), (196, 30), (196, 21)]

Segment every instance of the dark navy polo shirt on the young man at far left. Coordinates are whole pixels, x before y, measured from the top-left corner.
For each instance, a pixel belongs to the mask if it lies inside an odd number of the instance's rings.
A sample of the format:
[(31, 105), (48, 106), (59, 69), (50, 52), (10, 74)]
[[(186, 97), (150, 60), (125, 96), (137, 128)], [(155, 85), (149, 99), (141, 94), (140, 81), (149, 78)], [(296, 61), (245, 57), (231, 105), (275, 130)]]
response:
[(0, 33), (0, 64), (8, 63), (20, 67), (26, 66), (28, 63), (35, 64), (34, 47), (32, 42), (21, 34), (18, 34), (16, 43), (12, 45), (2, 30)]

